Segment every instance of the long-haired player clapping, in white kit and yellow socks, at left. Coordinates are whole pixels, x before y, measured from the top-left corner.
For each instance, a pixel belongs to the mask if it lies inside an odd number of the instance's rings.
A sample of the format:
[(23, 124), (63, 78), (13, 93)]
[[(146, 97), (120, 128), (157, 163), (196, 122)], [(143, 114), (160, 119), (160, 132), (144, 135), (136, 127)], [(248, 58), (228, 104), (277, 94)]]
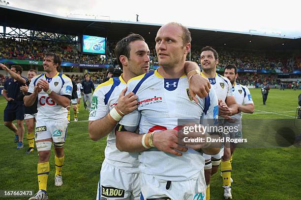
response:
[(55, 185), (62, 185), (61, 169), (64, 162), (63, 146), (67, 133), (67, 109), (72, 93), (71, 79), (58, 73), (61, 59), (56, 53), (47, 53), (43, 67), (45, 73), (31, 79), (26, 106), (38, 98), (35, 142), (39, 152), (37, 176), (39, 191), (30, 200), (48, 200), (47, 179), (50, 171), (49, 157), (52, 144), (55, 149)]

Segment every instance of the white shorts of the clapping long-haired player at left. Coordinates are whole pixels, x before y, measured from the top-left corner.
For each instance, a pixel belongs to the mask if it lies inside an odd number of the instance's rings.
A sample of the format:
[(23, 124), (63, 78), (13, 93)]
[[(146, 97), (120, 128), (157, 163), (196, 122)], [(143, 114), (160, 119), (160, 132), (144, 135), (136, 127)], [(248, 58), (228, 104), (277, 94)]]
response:
[(65, 142), (68, 130), (68, 120), (62, 122), (36, 121), (35, 141), (52, 138), (54, 143)]

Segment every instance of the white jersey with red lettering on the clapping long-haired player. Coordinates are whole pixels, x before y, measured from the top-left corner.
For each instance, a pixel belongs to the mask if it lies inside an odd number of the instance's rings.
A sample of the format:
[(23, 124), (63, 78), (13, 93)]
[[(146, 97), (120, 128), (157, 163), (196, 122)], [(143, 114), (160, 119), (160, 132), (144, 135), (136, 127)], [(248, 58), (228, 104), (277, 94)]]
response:
[[(58, 73), (52, 78), (46, 77), (45, 73), (33, 77), (31, 79), (28, 92), (33, 93), (34, 86), (36, 86), (39, 79), (47, 80), (49, 88), (58, 95), (71, 96), (72, 94), (71, 79), (61, 73)], [(55, 101), (48, 97), (48, 94), (46, 94), (44, 90), (38, 94), (37, 110), (37, 121), (61, 122), (67, 119), (67, 109), (58, 105)]]

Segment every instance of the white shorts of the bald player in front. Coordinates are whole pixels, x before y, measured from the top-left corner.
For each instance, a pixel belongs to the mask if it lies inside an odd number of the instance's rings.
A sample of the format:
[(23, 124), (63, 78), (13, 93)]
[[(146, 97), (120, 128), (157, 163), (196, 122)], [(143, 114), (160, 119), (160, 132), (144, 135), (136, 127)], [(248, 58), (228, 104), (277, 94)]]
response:
[[(142, 200), (205, 200), (206, 182), (204, 170), (187, 181), (167, 181), (141, 173)], [(168, 187), (169, 186), (169, 187)]]

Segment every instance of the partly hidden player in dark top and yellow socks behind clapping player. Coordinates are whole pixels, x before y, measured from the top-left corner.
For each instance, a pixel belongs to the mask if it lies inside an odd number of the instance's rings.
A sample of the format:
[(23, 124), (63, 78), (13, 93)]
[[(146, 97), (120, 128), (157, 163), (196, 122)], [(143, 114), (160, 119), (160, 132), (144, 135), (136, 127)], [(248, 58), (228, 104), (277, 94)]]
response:
[[(30, 85), (30, 81), (31, 78), (33, 78), (34, 76), (36, 76), (36, 71), (30, 69), (28, 71), (27, 74), (27, 78), (28, 81), (26, 81), (26, 85), (21, 86), (20, 90), (22, 91), (23, 95), (27, 95), (28, 89), (29, 89), (29, 85)], [(27, 107), (25, 106), (25, 116), (24, 116), (24, 120), (25, 120), (25, 124), (27, 127), (27, 134), (26, 134), (26, 138), (29, 144), (29, 149), (26, 151), (27, 154), (30, 154), (30, 152), (32, 152), (34, 150), (34, 133), (33, 133), (33, 128), (34, 128), (34, 123), (35, 123), (35, 117), (36, 117), (36, 113), (37, 113), (37, 99), (34, 101), (33, 105)]]

